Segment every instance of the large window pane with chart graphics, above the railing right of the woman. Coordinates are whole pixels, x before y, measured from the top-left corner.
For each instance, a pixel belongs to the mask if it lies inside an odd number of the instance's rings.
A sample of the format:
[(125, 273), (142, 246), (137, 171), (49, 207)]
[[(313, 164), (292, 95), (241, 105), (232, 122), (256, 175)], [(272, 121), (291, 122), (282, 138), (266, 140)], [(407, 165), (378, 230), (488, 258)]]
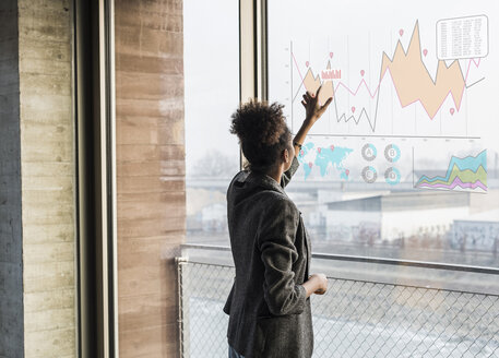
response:
[(288, 187), (313, 250), (499, 266), (499, 3), (274, 0), (269, 14), (270, 97), (292, 130), (306, 90), (334, 99)]

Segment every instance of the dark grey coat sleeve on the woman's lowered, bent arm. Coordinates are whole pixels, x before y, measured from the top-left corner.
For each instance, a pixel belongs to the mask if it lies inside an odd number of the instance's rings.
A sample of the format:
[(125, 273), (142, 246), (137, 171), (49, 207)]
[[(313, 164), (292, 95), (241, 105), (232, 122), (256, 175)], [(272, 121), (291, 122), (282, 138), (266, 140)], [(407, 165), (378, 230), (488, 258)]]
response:
[(306, 306), (305, 287), (295, 284), (293, 263), (298, 259), (295, 236), (299, 214), (284, 199), (271, 205), (260, 225), (259, 249), (265, 268), (263, 297), (272, 314), (299, 314)]

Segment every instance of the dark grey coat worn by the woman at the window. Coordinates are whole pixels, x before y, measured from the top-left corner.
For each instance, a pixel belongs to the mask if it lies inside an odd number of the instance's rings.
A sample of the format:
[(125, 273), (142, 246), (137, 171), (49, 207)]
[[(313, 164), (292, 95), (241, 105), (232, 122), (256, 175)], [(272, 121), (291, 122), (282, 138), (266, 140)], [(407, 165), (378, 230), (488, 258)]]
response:
[(224, 312), (228, 344), (246, 358), (312, 355), (310, 298), (301, 286), (310, 242), (301, 213), (284, 191), (298, 166), (294, 157), (281, 183), (242, 170), (227, 190), (236, 277)]

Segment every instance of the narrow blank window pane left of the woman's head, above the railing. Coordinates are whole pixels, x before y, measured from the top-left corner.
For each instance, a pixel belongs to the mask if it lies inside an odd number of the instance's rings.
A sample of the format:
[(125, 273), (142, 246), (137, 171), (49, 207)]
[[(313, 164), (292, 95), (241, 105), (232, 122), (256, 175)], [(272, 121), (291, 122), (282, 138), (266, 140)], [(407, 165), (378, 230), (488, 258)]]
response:
[(183, 2), (188, 242), (227, 243), (225, 193), (239, 170), (238, 2)]

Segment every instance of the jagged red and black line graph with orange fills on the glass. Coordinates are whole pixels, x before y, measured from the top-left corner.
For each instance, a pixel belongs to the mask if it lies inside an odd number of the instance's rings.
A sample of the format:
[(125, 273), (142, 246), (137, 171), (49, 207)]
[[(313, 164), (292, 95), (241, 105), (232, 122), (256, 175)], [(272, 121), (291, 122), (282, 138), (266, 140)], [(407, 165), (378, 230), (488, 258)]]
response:
[[(401, 40), (399, 40), (392, 58), (390, 58), (385, 52), (382, 53), (380, 80), (373, 90), (372, 87), (369, 87), (364, 77), (359, 81), (355, 88), (351, 88), (344, 82), (338, 81), (337, 83), (330, 85), (329, 92), (328, 90), (323, 90), (321, 92), (321, 100), (325, 100), (328, 97), (334, 98), (336, 120), (338, 122), (342, 119), (345, 121), (354, 119), (354, 121), (358, 123), (361, 116), (365, 115), (372, 131), (375, 131), (377, 115), (375, 114), (373, 121), (371, 121), (365, 107), (358, 112), (357, 118), (354, 117), (353, 112), (348, 117), (346, 114), (338, 116), (335, 98), (336, 93), (343, 90), (355, 97), (359, 94), (361, 88), (365, 88), (371, 99), (377, 99), (377, 112), (380, 87), (387, 76), (387, 73), (390, 73), (391, 83), (395, 88), (395, 93), (402, 108), (419, 102), (428, 117), (433, 119), (441, 110), (441, 107), (449, 95), (451, 95), (455, 107), (455, 109), (451, 109), (451, 114), (453, 115), (454, 110), (459, 111), (461, 109), (464, 91), (475, 83), (484, 80), (482, 79), (473, 84), (468, 84), (471, 68), (474, 67), (478, 69), (480, 65), (480, 59), (470, 59), (464, 72), (462, 71), (459, 60), (452, 61), (449, 65), (447, 65), (445, 61), (439, 60), (437, 72), (435, 76), (431, 76), (423, 60), (421, 52), (419, 27), (418, 22), (416, 22), (407, 50), (403, 48)], [(293, 48), (290, 49), (290, 56), (301, 80), (300, 86), (293, 98), (294, 100), (301, 86), (305, 86), (305, 88), (309, 92), (316, 92), (319, 85), (324, 83), (324, 81), (321, 81), (319, 75), (314, 75), (311, 68), (308, 69), (307, 74), (304, 76), (295, 53), (293, 52)]]

